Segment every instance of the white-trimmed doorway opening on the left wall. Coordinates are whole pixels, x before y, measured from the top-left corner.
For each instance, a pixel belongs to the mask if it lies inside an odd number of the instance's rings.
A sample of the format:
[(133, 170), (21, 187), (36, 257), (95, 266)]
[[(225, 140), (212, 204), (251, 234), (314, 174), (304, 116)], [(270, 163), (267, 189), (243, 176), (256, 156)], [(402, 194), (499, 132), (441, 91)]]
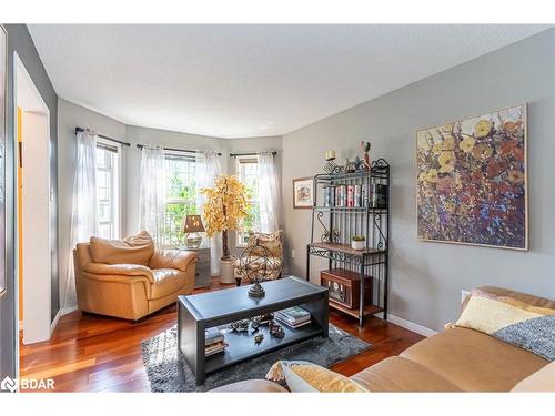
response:
[(19, 329), (23, 344), (50, 338), (50, 111), (18, 54), (14, 74)]

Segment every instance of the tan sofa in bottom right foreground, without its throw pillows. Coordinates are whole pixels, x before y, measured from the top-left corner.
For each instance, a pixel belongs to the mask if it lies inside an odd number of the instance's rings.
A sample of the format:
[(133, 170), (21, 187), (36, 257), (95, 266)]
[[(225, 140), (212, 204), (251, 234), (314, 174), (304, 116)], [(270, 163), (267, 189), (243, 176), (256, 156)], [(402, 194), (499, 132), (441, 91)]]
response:
[[(481, 290), (555, 310), (555, 302), (546, 298), (492, 286)], [(548, 361), (526, 349), (474, 329), (454, 327), (351, 378), (371, 392), (509, 392), (541, 390), (546, 386), (555, 390), (555, 363), (547, 365)], [(214, 392), (286, 390), (268, 381), (246, 381)]]

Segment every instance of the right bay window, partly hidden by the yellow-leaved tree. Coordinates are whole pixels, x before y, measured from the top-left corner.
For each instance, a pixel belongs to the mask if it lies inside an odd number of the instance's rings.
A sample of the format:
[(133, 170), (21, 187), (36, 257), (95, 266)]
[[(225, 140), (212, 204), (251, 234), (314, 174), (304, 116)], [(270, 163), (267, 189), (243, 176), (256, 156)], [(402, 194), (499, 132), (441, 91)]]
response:
[(249, 212), (249, 215), (242, 222), (241, 231), (236, 233), (236, 246), (246, 247), (249, 243), (249, 231), (260, 230), (259, 173), (256, 158), (238, 156), (236, 170), (239, 180), (246, 186)]

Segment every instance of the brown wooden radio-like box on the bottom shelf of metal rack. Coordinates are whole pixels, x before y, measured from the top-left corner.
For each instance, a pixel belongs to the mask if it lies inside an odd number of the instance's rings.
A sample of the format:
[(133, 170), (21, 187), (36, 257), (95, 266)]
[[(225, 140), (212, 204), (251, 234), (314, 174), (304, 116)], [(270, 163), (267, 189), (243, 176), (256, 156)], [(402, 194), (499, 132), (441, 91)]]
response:
[[(361, 304), (361, 274), (346, 268), (330, 268), (320, 272), (321, 284), (330, 291), (330, 301), (349, 308)], [(364, 304), (372, 303), (372, 276), (364, 276)]]

